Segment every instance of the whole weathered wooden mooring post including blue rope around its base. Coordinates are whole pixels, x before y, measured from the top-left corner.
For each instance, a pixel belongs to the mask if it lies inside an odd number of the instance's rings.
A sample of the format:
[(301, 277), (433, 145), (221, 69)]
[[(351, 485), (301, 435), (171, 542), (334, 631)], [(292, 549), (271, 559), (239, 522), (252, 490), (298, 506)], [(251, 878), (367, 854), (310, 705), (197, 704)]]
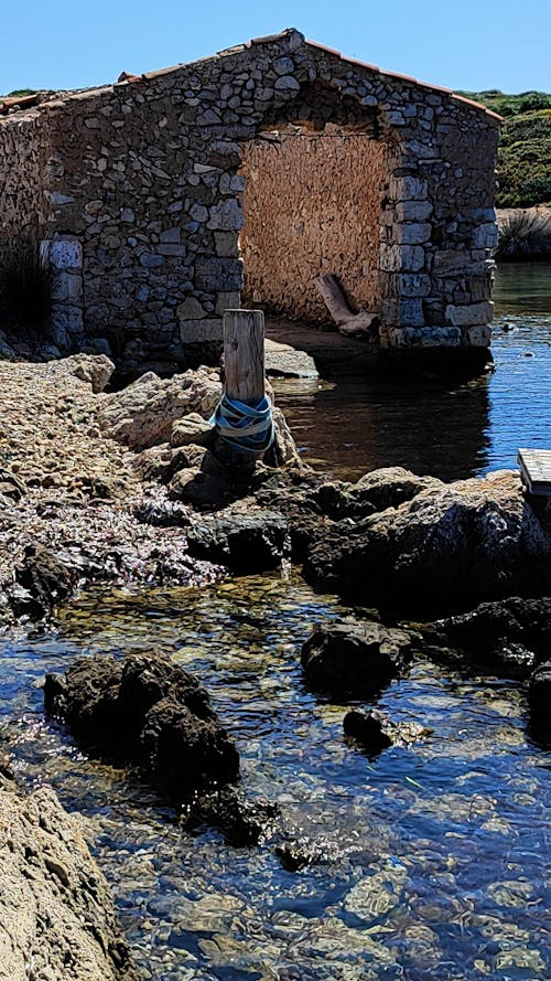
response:
[(273, 439), (271, 404), (264, 388), (261, 310), (224, 312), (224, 393), (215, 420), (215, 454), (242, 480)]

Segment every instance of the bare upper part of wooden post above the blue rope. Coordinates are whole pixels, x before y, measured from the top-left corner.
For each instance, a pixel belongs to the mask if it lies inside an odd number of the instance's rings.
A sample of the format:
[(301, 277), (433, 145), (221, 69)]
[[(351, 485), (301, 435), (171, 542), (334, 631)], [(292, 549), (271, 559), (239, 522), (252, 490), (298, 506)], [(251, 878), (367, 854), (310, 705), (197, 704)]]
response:
[(264, 314), (225, 310), (224, 373), (228, 398), (252, 405), (264, 396)]

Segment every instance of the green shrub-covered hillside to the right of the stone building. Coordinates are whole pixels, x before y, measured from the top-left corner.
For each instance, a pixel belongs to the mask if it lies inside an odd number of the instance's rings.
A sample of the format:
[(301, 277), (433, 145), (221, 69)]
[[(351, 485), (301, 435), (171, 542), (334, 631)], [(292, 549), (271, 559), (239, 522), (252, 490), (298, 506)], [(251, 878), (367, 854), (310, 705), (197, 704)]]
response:
[(498, 207), (551, 203), (551, 94), (464, 92), (505, 117), (498, 151)]

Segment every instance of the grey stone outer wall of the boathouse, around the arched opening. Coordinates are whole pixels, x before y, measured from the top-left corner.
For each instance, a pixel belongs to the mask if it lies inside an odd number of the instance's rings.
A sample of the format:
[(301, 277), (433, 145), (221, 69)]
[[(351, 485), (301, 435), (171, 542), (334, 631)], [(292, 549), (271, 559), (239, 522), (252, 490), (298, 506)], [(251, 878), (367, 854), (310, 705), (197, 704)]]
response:
[(381, 344), (488, 342), (499, 124), (482, 107), (287, 31), (36, 111), (55, 149), (46, 237), (61, 245), (46, 249), (61, 256), (66, 346), (107, 339), (143, 363), (219, 344), (242, 285), (244, 154), (289, 122), (385, 146)]

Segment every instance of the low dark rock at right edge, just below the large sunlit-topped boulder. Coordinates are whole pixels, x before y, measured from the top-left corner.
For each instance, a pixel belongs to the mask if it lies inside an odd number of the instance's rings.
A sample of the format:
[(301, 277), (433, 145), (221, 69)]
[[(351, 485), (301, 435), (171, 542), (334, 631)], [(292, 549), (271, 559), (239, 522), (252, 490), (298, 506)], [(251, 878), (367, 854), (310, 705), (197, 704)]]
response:
[(529, 678), (551, 650), (551, 598), (514, 596), (483, 603), (467, 614), (429, 625), (423, 635), (436, 646), (436, 658), (440, 647), (443, 659), (450, 660), (450, 644), (501, 676)]

